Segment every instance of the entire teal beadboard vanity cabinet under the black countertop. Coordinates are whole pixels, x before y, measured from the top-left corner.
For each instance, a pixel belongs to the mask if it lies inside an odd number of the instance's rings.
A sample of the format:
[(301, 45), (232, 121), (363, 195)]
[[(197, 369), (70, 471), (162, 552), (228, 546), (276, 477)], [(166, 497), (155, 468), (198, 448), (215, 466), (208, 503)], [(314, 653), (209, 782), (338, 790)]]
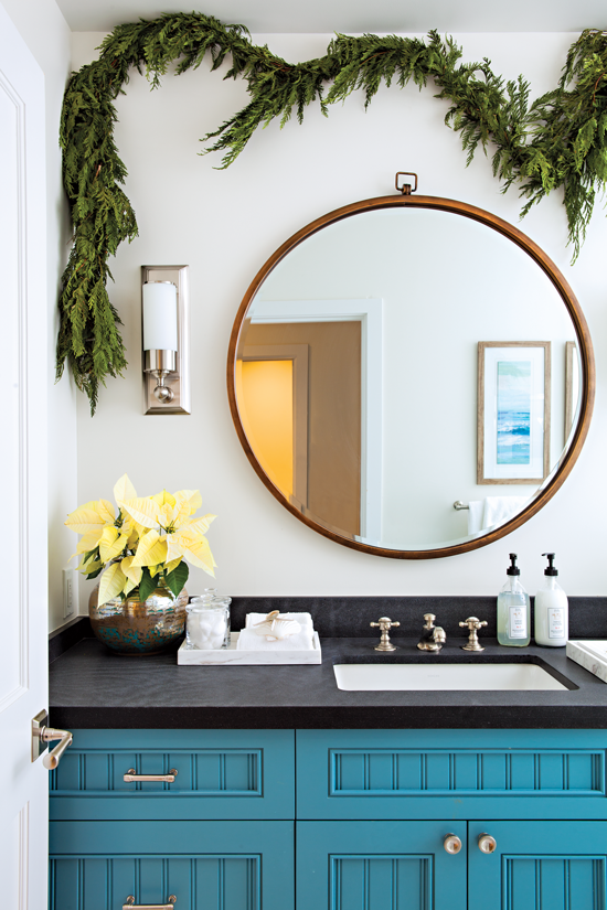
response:
[(601, 730), (76, 730), (50, 907), (607, 910), (606, 749)]

